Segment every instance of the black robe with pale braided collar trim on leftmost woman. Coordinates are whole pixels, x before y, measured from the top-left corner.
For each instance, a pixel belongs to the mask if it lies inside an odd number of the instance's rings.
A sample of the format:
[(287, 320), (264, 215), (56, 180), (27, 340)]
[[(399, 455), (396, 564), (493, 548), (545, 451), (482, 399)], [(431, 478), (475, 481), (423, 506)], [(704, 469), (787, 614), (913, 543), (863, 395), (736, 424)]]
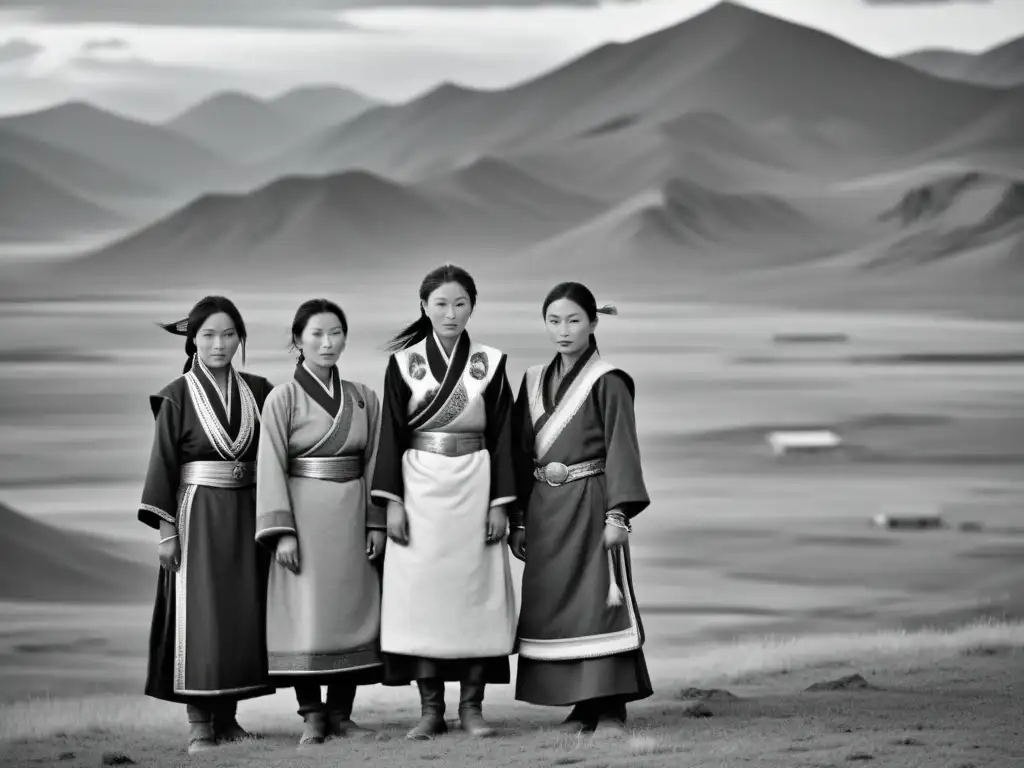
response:
[(138, 518), (177, 526), (181, 564), (160, 569), (147, 695), (209, 706), (271, 693), (268, 558), (255, 542), (256, 446), (270, 384), (230, 370), (224, 396), (199, 356), (150, 398), (157, 432)]

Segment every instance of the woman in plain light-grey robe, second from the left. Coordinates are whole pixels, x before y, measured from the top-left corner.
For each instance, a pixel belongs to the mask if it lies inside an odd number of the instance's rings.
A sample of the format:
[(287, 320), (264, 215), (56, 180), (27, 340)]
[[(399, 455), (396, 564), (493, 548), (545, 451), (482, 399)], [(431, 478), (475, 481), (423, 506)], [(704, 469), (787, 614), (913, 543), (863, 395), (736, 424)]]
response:
[(377, 565), (385, 520), (367, 488), (380, 406), (372, 389), (338, 373), (347, 332), (336, 304), (299, 307), (295, 378), (267, 396), (259, 443), (256, 540), (276, 560), (267, 587), (268, 669), (276, 687), (295, 687), (300, 744), (368, 730), (351, 720), (355, 688), (382, 675)]

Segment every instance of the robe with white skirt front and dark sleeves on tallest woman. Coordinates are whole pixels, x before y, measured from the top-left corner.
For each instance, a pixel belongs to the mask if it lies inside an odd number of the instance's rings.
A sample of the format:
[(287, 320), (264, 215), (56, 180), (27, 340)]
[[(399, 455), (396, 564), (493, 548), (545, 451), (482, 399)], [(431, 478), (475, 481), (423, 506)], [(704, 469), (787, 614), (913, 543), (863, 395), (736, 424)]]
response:
[(515, 500), (505, 360), (463, 333), (451, 359), (431, 334), (388, 361), (372, 495), (404, 505), (409, 544), (389, 543), (384, 558), (386, 684), (509, 682), (508, 548), (484, 543), (488, 510)]

